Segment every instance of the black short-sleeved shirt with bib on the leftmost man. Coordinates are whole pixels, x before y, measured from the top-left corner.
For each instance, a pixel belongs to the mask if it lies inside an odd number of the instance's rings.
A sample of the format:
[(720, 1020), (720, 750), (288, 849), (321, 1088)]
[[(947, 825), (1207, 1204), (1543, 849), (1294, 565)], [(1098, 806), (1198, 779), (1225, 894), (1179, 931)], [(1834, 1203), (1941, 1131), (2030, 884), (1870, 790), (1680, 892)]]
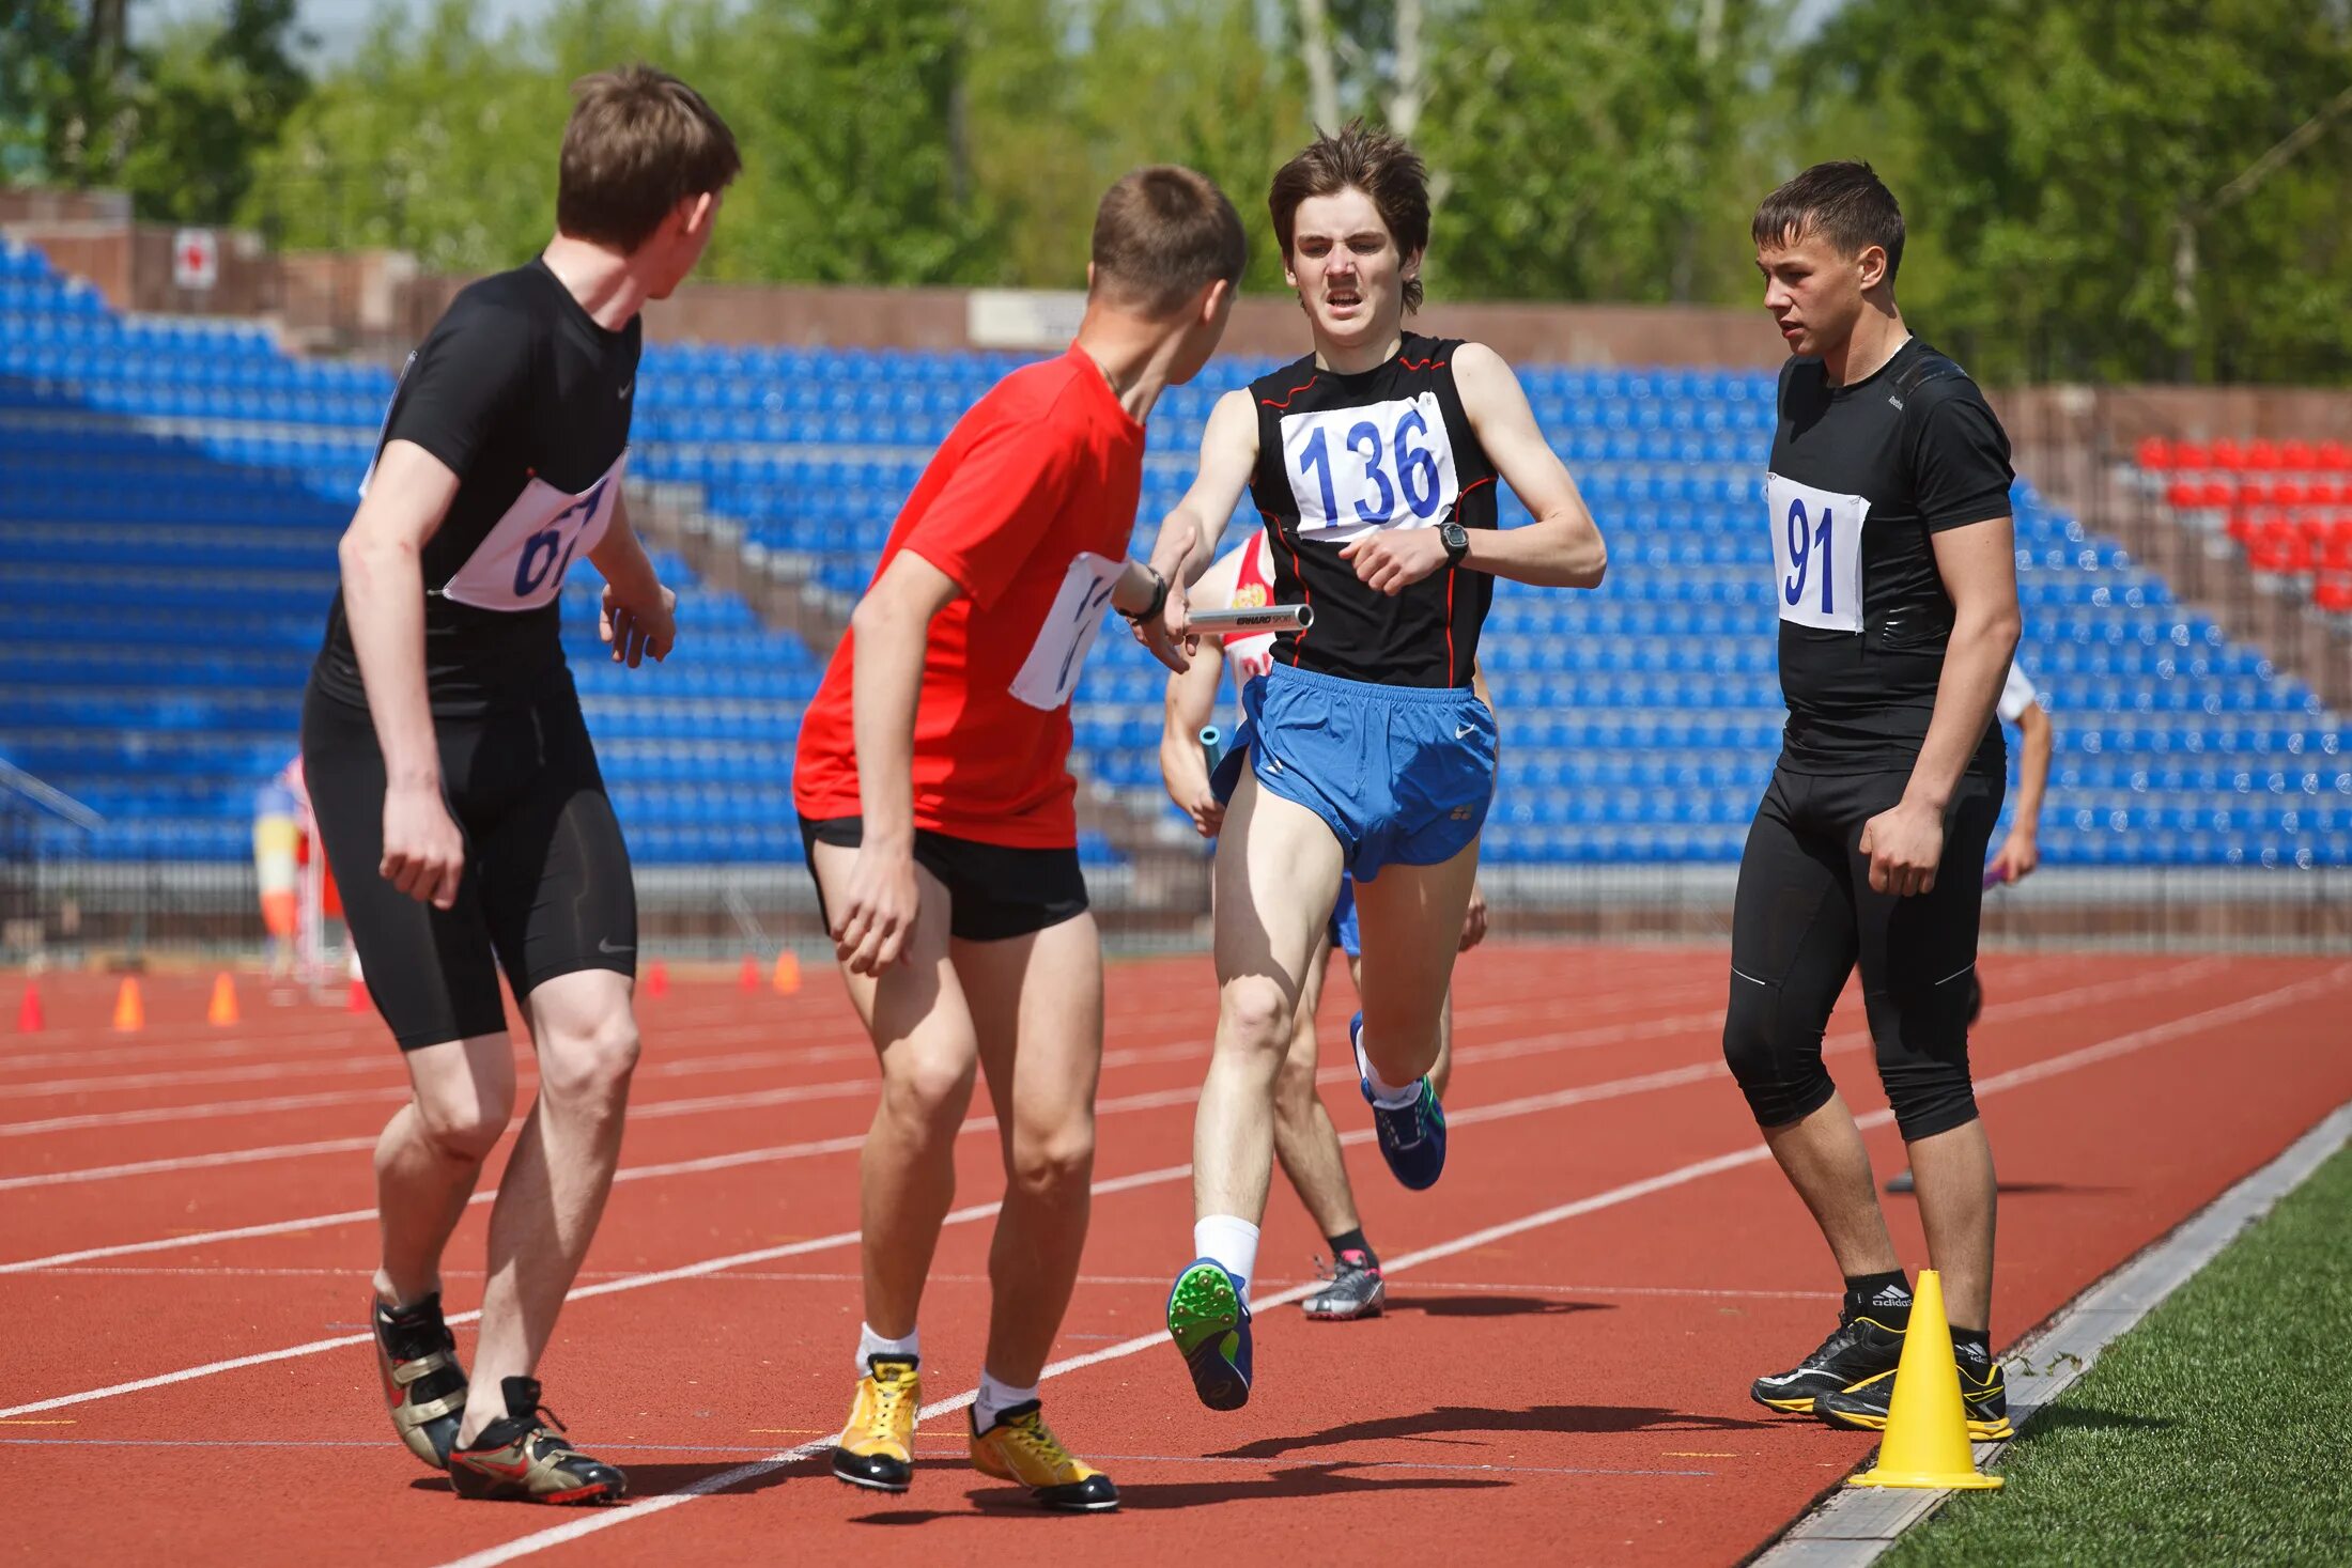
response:
[[(459, 475), (423, 548), (435, 715), (532, 701), (562, 670), (557, 590), (619, 503), (640, 341), (637, 317), (607, 331), (534, 259), (468, 284), (409, 355), (376, 451), (416, 442)], [(341, 592), (313, 679), (367, 703)]]

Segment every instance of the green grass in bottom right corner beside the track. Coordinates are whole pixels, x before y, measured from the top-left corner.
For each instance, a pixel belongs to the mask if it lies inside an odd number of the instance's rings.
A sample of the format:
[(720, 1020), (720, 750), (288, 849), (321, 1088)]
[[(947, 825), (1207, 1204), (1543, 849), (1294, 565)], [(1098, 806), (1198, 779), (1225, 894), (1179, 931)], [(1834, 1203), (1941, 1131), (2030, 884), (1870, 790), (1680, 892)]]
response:
[(2352, 1150), (2107, 1347), (1886, 1568), (2352, 1561)]

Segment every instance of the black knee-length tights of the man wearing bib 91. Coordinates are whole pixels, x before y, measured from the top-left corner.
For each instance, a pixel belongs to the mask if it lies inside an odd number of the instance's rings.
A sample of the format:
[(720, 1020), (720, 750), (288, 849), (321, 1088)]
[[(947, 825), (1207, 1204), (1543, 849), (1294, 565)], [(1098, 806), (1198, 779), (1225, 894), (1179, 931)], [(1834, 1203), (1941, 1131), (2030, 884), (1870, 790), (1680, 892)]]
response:
[(1905, 783), (1907, 773), (1780, 766), (1748, 830), (1731, 910), (1724, 1060), (1759, 1126), (1802, 1121), (1837, 1091), (1820, 1065), (1820, 1034), (1856, 964), (1879, 1081), (1903, 1138), (1976, 1119), (1976, 931), (2004, 785), (1985, 773), (1959, 780), (1936, 889), (1898, 898), (1870, 891), (1860, 837), (1863, 823), (1903, 799)]

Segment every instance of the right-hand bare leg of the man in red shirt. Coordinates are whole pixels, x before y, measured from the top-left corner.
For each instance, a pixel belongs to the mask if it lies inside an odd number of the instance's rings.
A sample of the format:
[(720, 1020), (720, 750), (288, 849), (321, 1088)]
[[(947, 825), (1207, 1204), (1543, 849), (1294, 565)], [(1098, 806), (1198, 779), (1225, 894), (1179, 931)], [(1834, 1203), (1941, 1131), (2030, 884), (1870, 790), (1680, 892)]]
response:
[(983, 1368), (1030, 1387), (1077, 1286), (1094, 1192), (1103, 1067), (1103, 940), (1091, 914), (1002, 943), (953, 943), (1004, 1147), (1004, 1211), (988, 1248)]

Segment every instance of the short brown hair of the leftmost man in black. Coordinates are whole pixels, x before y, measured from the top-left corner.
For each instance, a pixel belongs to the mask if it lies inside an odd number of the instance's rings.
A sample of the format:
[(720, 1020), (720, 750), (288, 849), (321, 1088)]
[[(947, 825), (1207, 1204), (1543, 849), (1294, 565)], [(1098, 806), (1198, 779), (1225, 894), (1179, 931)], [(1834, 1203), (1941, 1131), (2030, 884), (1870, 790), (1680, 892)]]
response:
[(633, 252), (687, 197), (727, 188), (743, 169), (734, 132), (703, 94), (654, 66), (572, 82), (555, 228)]

